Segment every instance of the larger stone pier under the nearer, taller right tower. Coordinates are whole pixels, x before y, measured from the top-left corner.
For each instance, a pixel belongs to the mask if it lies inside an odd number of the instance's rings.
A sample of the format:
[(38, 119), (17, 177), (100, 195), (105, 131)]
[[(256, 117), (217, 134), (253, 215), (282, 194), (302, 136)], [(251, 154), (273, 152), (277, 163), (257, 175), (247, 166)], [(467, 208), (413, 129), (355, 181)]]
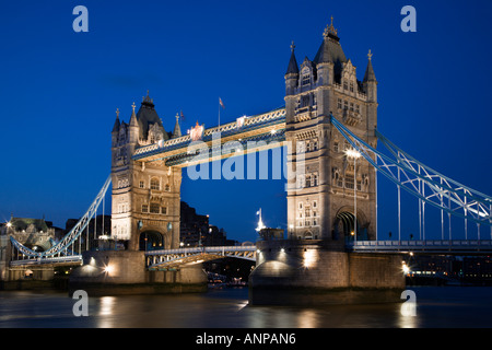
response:
[(405, 290), (402, 258), (343, 250), (321, 240), (257, 242), (249, 276), (251, 305), (321, 305), (398, 302)]

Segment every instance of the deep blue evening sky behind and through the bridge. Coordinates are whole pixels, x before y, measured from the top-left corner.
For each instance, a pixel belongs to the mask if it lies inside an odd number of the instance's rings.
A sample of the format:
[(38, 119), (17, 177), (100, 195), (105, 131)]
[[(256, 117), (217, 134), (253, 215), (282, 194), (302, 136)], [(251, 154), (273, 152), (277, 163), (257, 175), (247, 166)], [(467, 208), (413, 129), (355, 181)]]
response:
[[(72, 30), (78, 4), (89, 9), (89, 33)], [(417, 33), (400, 31), (406, 4), (417, 9)], [(300, 63), (313, 59), (331, 15), (359, 79), (374, 54), (379, 130), (492, 194), (491, 13), (487, 0), (4, 2), (0, 220), (45, 214), (63, 228), (82, 215), (110, 172), (116, 108), (128, 121), (147, 90), (166, 130), (181, 109), (184, 130), (216, 125), (219, 96), (222, 122), (282, 106), (291, 40)], [(191, 182), (184, 172), (181, 199), (230, 238), (256, 240), (259, 207), (268, 225), (285, 226), (283, 180)], [(417, 202), (403, 209), (408, 236)], [(396, 190), (382, 180), (380, 234), (396, 223)]]

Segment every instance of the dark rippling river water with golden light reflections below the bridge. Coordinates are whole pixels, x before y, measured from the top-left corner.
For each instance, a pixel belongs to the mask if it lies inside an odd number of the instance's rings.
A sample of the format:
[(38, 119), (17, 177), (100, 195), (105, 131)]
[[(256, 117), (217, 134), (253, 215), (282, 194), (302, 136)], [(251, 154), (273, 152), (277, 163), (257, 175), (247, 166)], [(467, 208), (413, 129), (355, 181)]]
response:
[(89, 316), (75, 317), (66, 293), (0, 292), (0, 327), (91, 328), (327, 328), (327, 327), (492, 327), (492, 288), (409, 288), (417, 315), (401, 304), (323, 307), (248, 306), (248, 291), (203, 294), (125, 295), (89, 299)]

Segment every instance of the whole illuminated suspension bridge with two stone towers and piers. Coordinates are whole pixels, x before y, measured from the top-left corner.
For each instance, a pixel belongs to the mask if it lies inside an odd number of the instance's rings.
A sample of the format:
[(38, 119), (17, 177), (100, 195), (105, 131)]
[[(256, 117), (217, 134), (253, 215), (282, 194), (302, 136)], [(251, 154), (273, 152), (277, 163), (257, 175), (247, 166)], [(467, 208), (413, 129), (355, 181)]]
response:
[[(179, 284), (184, 291), (183, 285), (207, 281), (200, 262), (235, 256), (256, 260), (251, 303), (323, 303), (360, 302), (367, 295), (372, 301), (398, 300), (405, 287), (401, 256), (412, 249), (490, 254), (492, 231), (480, 236), (480, 228), (492, 230), (492, 198), (433, 171), (378, 131), (378, 82), (372, 60), (370, 50), (359, 80), (331, 21), (313, 60), (306, 57), (298, 65), (291, 45), (282, 108), (238, 116), (212, 128), (197, 121), (187, 135), (181, 135), (178, 116), (173, 132), (164, 129), (149, 93), (137, 112), (132, 104), (128, 124), (118, 109), (112, 173), (87, 212), (45, 252), (11, 238), (11, 266), (79, 259), (83, 266), (73, 281), (82, 288), (161, 283)], [(183, 168), (273, 148), (286, 149), (286, 240), (248, 247), (180, 248)], [(398, 189), (397, 243), (378, 240), (377, 196), (384, 195), (377, 190), (378, 174)], [(112, 238), (124, 242), (125, 250), (83, 252), (84, 229), (110, 183)], [(419, 200), (423, 240), (401, 240), (401, 189)], [(441, 241), (425, 240), (425, 206), (441, 211)], [(452, 215), (462, 219), (465, 226), (475, 222), (478, 240), (454, 241)], [(143, 252), (149, 243), (154, 248)], [(315, 293), (305, 293), (306, 288)]]

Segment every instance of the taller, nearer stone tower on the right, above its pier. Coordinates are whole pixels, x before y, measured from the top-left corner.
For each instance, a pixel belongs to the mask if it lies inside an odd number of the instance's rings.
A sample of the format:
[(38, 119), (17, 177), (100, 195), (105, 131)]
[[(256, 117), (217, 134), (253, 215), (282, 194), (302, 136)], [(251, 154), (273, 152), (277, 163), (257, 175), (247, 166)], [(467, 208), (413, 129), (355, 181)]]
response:
[(377, 81), (372, 54), (364, 79), (359, 81), (332, 19), (313, 60), (306, 57), (298, 67), (293, 44), (291, 50), (285, 73), (285, 139), (291, 145), (288, 168), (297, 176), (288, 184), (288, 236), (339, 243), (373, 240), (375, 170), (351, 152), (352, 147), (330, 122), (332, 115), (376, 147)]

